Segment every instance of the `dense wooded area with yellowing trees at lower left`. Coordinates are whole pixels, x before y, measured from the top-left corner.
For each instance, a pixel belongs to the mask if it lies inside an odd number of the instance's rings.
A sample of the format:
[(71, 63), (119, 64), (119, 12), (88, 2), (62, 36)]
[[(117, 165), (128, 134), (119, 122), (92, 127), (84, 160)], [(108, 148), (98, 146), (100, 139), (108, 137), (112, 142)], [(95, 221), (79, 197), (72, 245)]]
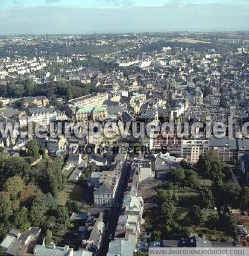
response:
[[(23, 156), (0, 154), (0, 169), (3, 189), (0, 192), (0, 237), (17, 228), (20, 232), (31, 226), (43, 229), (63, 228), (74, 203), (58, 206), (55, 199), (63, 190), (65, 178), (61, 172), (63, 161), (50, 159), (37, 146), (35, 141), (28, 142), (28, 152)], [(43, 159), (31, 166), (33, 160)], [(62, 227), (61, 227), (62, 226)]]

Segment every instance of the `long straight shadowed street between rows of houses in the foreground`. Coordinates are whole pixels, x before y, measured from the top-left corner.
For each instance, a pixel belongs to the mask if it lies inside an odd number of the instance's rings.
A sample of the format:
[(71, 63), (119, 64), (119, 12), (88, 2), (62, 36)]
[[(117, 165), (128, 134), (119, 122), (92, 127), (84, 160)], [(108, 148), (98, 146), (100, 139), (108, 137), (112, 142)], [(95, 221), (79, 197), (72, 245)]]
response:
[(112, 237), (115, 237), (115, 231), (116, 226), (118, 224), (118, 218), (121, 213), (121, 206), (124, 199), (124, 193), (127, 190), (128, 180), (130, 177), (130, 170), (131, 170), (131, 163), (125, 162), (124, 169), (122, 171), (121, 175), (121, 181), (120, 181), (120, 187), (118, 189), (118, 194), (116, 196), (116, 202), (113, 206), (112, 210), (110, 211), (109, 220), (107, 223), (106, 228), (106, 234), (103, 235), (102, 239), (102, 245), (99, 249), (98, 256), (106, 256), (108, 249), (109, 249), (109, 243), (110, 243), (110, 234), (112, 234)]

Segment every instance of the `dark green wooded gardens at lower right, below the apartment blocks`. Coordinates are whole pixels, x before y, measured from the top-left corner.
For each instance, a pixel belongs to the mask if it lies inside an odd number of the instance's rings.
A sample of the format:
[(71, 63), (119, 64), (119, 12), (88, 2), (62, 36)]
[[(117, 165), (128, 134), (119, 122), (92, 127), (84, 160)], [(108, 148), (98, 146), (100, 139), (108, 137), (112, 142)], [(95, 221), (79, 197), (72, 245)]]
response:
[(153, 217), (153, 240), (195, 232), (209, 240), (237, 239), (238, 220), (229, 209), (249, 209), (249, 188), (233, 182), (215, 151), (203, 153), (193, 168), (183, 162), (157, 190), (160, 213)]

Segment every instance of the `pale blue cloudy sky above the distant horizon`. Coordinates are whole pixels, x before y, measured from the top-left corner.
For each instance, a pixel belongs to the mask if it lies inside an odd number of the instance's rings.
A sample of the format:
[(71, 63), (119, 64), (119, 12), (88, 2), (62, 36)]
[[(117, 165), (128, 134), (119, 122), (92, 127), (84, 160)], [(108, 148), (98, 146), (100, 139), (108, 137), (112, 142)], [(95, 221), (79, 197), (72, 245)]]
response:
[(249, 0), (0, 0), (0, 34), (248, 28)]

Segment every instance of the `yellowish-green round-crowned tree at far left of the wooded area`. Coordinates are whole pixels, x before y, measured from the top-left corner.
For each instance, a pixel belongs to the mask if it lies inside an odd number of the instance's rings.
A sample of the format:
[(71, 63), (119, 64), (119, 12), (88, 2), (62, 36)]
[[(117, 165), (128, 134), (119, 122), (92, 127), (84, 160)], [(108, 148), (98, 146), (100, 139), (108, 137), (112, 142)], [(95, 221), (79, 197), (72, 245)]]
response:
[(10, 193), (11, 199), (17, 199), (24, 189), (24, 181), (19, 176), (10, 177), (4, 182), (4, 191)]

